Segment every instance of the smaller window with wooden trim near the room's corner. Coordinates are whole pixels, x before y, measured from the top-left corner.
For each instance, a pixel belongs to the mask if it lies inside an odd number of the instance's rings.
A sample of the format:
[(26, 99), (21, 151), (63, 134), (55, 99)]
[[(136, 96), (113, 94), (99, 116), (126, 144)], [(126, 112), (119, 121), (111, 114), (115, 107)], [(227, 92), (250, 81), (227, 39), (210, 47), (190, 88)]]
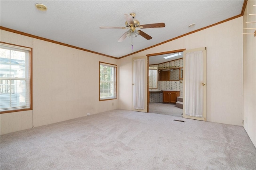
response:
[(116, 99), (117, 65), (100, 62), (100, 101)]

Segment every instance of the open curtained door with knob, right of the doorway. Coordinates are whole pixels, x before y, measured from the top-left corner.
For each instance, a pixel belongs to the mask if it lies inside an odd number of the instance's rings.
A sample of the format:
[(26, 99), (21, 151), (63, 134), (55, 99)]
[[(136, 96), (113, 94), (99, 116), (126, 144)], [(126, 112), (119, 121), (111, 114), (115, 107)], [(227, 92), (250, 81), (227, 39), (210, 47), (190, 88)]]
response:
[(183, 117), (206, 121), (206, 47), (183, 53)]

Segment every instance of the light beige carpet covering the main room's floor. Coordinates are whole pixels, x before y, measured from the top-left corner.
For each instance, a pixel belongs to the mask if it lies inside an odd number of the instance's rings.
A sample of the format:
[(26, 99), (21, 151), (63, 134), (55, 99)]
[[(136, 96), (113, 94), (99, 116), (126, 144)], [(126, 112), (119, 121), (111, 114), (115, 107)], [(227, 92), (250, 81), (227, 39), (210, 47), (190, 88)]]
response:
[(114, 110), (1, 136), (1, 170), (256, 169), (243, 127)]

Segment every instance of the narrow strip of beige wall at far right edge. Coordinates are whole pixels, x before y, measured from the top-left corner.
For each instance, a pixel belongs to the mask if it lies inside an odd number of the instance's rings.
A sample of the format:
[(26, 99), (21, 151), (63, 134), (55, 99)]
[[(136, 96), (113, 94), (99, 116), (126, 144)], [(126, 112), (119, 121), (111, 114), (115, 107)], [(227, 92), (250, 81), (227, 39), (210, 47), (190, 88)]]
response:
[[(256, 0), (248, 0), (244, 12), (244, 28), (256, 28), (256, 23), (246, 24), (247, 21), (256, 21), (254, 14)], [(253, 33), (255, 30), (244, 30), (244, 33)], [(256, 146), (256, 37), (244, 35), (244, 129)]]

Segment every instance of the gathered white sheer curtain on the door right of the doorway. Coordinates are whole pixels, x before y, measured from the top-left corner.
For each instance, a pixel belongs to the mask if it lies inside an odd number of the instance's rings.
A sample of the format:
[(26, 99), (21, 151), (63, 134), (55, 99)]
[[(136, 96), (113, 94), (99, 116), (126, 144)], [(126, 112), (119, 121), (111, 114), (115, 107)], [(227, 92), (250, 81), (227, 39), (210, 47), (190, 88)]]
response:
[(186, 53), (185, 61), (185, 113), (203, 117), (203, 51)]

